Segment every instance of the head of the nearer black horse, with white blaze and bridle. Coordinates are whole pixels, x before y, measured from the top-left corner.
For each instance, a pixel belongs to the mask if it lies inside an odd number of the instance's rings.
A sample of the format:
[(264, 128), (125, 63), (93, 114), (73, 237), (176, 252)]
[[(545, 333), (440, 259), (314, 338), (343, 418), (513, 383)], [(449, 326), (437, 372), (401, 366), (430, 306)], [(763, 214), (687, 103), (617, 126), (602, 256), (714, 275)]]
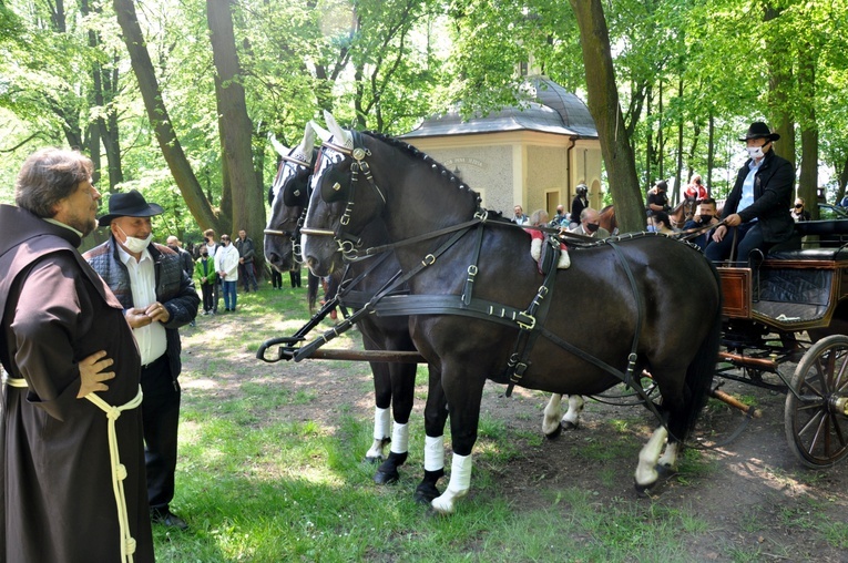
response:
[(343, 257), (356, 256), (360, 234), (386, 203), (368, 164), (374, 140), (341, 129), (328, 112), (324, 119), (329, 131), (317, 129), (323, 143), (302, 229), (304, 258), (316, 276), (327, 276)]

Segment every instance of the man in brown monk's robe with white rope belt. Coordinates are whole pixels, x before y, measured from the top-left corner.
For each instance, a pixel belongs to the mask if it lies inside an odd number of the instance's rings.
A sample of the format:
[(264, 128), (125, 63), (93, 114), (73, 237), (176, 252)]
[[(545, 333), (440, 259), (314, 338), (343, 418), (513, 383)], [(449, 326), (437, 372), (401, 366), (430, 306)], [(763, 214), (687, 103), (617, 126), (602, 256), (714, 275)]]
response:
[(0, 205), (0, 561), (154, 561), (139, 350), (76, 249), (96, 227), (93, 168), (42, 149)]

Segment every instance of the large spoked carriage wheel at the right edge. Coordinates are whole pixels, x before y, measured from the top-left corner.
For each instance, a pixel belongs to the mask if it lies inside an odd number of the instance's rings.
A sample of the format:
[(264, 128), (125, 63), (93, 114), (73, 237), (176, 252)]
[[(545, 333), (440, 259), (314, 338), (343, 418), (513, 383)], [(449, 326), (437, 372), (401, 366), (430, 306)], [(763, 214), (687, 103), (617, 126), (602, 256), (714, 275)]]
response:
[(807, 467), (829, 467), (848, 454), (848, 336), (824, 338), (804, 355), (784, 423), (789, 449)]

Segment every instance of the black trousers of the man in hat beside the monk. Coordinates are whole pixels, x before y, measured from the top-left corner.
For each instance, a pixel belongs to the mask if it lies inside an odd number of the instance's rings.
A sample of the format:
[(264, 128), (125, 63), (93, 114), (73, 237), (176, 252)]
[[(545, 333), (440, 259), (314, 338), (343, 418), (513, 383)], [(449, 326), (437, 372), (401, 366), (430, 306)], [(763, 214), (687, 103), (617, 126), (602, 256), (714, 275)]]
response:
[(151, 510), (166, 510), (174, 499), (181, 397), (167, 354), (142, 368), (141, 386), (147, 500)]

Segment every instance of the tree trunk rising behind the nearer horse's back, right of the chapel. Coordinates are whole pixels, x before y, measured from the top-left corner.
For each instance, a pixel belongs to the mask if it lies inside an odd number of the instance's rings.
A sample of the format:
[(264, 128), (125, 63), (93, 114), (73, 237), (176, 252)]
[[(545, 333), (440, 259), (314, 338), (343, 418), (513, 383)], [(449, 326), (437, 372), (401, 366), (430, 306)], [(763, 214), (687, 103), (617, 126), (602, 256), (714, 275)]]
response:
[(638, 188), (633, 149), (619, 103), (603, 7), (601, 0), (570, 2), (580, 28), (589, 111), (597, 127), (619, 226), (622, 233), (642, 231), (645, 227), (645, 202)]

